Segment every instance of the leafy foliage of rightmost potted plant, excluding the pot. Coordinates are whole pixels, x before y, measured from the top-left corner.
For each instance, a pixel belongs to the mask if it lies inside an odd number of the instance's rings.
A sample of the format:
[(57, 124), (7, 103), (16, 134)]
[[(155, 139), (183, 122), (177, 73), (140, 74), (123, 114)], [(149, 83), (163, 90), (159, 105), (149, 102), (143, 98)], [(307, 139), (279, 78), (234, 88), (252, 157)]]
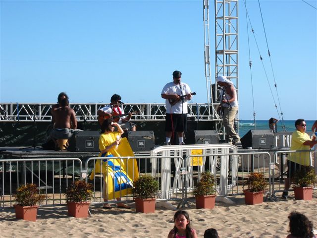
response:
[(294, 187), (308, 187), (317, 182), (315, 170), (310, 166), (303, 166), (297, 170), (294, 178)]

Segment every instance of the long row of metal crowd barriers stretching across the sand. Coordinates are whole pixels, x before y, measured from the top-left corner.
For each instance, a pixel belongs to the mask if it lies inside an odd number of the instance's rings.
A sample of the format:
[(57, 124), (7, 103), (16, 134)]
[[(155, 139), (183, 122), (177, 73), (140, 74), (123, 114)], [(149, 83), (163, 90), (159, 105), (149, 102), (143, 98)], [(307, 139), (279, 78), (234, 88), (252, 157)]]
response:
[[(277, 200), (275, 193), (283, 190), (285, 180), (285, 161), (291, 154), (309, 153), (310, 165), (313, 164), (312, 151), (276, 151), (272, 152), (237, 152), (237, 147), (229, 144), (209, 145), (179, 145), (160, 146), (151, 151), (150, 156), (111, 157), (118, 159), (121, 166), (119, 172), (118, 194), (108, 197), (108, 203), (114, 203), (116, 197), (132, 202), (131, 191), (121, 191), (121, 181), (126, 178), (121, 174), (127, 171), (130, 187), (134, 179), (142, 174), (151, 174), (159, 181), (158, 200), (179, 200), (184, 204), (187, 194), (192, 193), (194, 184), (200, 179), (200, 174), (211, 171), (216, 181), (217, 196), (230, 197), (241, 195), (246, 189), (246, 180), (250, 172), (262, 172), (268, 179), (266, 197)], [(315, 153), (316, 154), (316, 153)], [(75, 179), (88, 179), (94, 185), (93, 203), (103, 203), (103, 191), (110, 194), (105, 187), (102, 161), (108, 157), (91, 157), (85, 162), (78, 158), (46, 158), (46, 159), (4, 159), (0, 160), (0, 207), (11, 207), (14, 204), (12, 195), (22, 183), (34, 182), (41, 192), (46, 194), (45, 205), (65, 204), (64, 192), (69, 183)], [(316, 164), (316, 160), (315, 160)], [(106, 164), (106, 171), (111, 166)], [(135, 169), (137, 168), (137, 169)], [(315, 166), (315, 168), (317, 168)], [(132, 172), (131, 172), (132, 171)], [(5, 172), (5, 173), (4, 173)], [(94, 175), (92, 175), (92, 173)], [(132, 174), (131, 174), (132, 173)], [(110, 176), (115, 177), (110, 173)], [(115, 181), (112, 180), (112, 187)], [(314, 188), (317, 189), (316, 184)]]

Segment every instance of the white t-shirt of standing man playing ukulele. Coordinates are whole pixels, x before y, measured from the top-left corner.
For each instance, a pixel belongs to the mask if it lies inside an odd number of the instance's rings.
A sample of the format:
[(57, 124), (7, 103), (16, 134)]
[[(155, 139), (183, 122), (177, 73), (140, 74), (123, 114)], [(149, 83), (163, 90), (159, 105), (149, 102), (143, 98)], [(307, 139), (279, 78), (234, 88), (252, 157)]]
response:
[[(180, 83), (175, 84), (174, 82), (167, 83), (163, 89), (161, 94), (167, 94), (167, 95), (175, 95), (178, 94), (179, 96), (187, 95), (191, 93), (189, 86), (186, 83)], [(175, 113), (175, 114), (181, 114), (182, 113), (182, 101), (176, 103), (175, 105), (171, 105), (168, 101), (168, 99), (165, 99), (165, 105), (166, 105), (166, 113)], [(183, 113), (187, 114), (187, 100), (184, 98), (184, 104), (183, 104)]]

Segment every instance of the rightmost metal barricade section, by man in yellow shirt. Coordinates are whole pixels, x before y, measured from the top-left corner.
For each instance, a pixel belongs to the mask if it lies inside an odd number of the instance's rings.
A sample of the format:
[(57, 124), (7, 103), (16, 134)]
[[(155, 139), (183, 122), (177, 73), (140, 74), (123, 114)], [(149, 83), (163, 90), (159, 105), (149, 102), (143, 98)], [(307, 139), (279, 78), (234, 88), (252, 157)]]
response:
[[(306, 164), (307, 166), (313, 167), (314, 165), (314, 160), (312, 156), (312, 150), (280, 150), (276, 151), (274, 153), (274, 164), (277, 166), (277, 170), (273, 171), (273, 181), (272, 181), (272, 196), (274, 197), (275, 200), (278, 200), (275, 193), (276, 192), (282, 192), (284, 191), (285, 187), (285, 180), (287, 179), (287, 173), (292, 173), (291, 168), (288, 168), (287, 166), (287, 159), (291, 158), (294, 156), (293, 161), (297, 161), (301, 166), (304, 166), (303, 164)], [(316, 164), (316, 161), (315, 161)], [(315, 167), (315, 171), (316, 171)], [(290, 171), (288, 171), (290, 170)], [(296, 173), (296, 168), (294, 173)], [(289, 186), (291, 185), (291, 180), (289, 180)], [(276, 188), (277, 186), (277, 188)], [(317, 184), (314, 184), (314, 189), (317, 189)], [(293, 189), (289, 189), (293, 190)]]

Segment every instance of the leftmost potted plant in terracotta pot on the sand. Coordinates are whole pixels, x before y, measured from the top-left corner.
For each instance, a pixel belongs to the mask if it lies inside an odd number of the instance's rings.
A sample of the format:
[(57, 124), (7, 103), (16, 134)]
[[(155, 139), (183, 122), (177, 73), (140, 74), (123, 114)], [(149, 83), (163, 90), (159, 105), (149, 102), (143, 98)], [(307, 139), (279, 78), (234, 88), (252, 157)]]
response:
[(16, 189), (16, 194), (13, 197), (15, 197), (16, 202), (14, 205), (15, 218), (35, 222), (39, 207), (36, 204), (46, 199), (46, 196), (40, 193), (37, 185), (34, 183), (22, 184)]

